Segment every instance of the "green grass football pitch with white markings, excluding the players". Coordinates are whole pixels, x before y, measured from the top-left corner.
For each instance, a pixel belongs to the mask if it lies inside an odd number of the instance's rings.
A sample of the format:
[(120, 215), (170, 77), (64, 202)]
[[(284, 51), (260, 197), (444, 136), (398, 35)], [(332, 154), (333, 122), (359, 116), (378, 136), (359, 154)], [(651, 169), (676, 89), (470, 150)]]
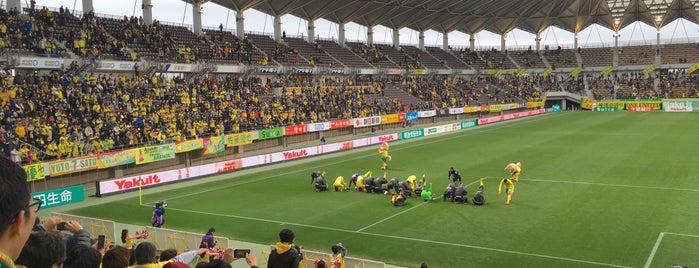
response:
[[(441, 194), (453, 166), (469, 199), (484, 178), (485, 206), (412, 197), (393, 207), (390, 195), (314, 192), (315, 170), (330, 184), (380, 175), (377, 145), (199, 180), (145, 195), (143, 206), (129, 199), (67, 213), (145, 225), (152, 204), (167, 200), (168, 228), (215, 226), (217, 235), (263, 244), (290, 228), (304, 248), (342, 242), (350, 256), (407, 267), (692, 267), (697, 122), (697, 113), (564, 112), (391, 144), (389, 178), (424, 173)], [(510, 162), (523, 169), (505, 206), (497, 185)]]

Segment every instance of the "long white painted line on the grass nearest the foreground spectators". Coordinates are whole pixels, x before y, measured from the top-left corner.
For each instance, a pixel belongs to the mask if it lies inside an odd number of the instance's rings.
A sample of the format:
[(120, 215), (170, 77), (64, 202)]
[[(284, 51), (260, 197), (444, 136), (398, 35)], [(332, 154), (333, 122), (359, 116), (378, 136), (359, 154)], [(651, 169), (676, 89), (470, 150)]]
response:
[(335, 231), (335, 232), (375, 236), (375, 237), (381, 237), (381, 238), (391, 238), (391, 239), (415, 241), (415, 242), (422, 242), (422, 243), (431, 243), (431, 244), (455, 246), (455, 247), (462, 247), (462, 248), (479, 249), (479, 250), (500, 252), (500, 253), (506, 253), (506, 254), (515, 254), (515, 255), (537, 257), (537, 258), (544, 258), (544, 259), (552, 259), (552, 260), (559, 260), (559, 261), (567, 261), (567, 262), (575, 262), (575, 263), (585, 263), (585, 264), (591, 264), (591, 265), (597, 265), (597, 266), (632, 268), (631, 266), (624, 266), (624, 265), (611, 264), (611, 263), (594, 262), (594, 261), (564, 258), (564, 257), (557, 257), (557, 256), (550, 256), (550, 255), (543, 255), (543, 254), (536, 254), (536, 253), (527, 253), (527, 252), (513, 251), (513, 250), (506, 250), (506, 249), (499, 249), (499, 248), (481, 247), (481, 246), (468, 245), (468, 244), (457, 244), (457, 243), (451, 243), (451, 242), (435, 241), (435, 240), (404, 237), (404, 236), (395, 236), (395, 235), (385, 235), (385, 234), (377, 234), (377, 233), (352, 231), (352, 230), (331, 228), (331, 227), (325, 227), (325, 226), (316, 226), (316, 225), (309, 225), (309, 224), (302, 224), (302, 223), (284, 222), (284, 221), (254, 218), (254, 217), (237, 216), (237, 215), (229, 215), (229, 214), (221, 214), (221, 213), (210, 213), (210, 212), (204, 212), (204, 211), (195, 211), (195, 210), (177, 209), (177, 208), (168, 208), (168, 210), (182, 211), (182, 212), (195, 213), (195, 214), (205, 214), (205, 215), (227, 217), (227, 218), (244, 219), (244, 220), (251, 220), (251, 221), (276, 223), (276, 224), (280, 224), (280, 225), (292, 225), (292, 226), (299, 226), (299, 227), (312, 228), (312, 229), (320, 229), (320, 230), (328, 230), (328, 231)]

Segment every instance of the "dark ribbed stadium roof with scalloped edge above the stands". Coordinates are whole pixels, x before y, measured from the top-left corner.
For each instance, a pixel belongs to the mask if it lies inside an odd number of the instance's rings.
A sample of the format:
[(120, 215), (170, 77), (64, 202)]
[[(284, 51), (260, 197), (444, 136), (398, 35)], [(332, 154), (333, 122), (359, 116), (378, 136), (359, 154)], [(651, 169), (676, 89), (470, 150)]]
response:
[[(207, 2), (208, 0), (184, 0)], [(354, 22), (363, 26), (416, 31), (514, 29), (542, 33), (550, 26), (577, 33), (592, 24), (618, 31), (640, 21), (657, 29), (684, 18), (699, 24), (696, 0), (210, 0), (235, 11), (256, 9), (270, 15), (291, 14), (306, 20)]]

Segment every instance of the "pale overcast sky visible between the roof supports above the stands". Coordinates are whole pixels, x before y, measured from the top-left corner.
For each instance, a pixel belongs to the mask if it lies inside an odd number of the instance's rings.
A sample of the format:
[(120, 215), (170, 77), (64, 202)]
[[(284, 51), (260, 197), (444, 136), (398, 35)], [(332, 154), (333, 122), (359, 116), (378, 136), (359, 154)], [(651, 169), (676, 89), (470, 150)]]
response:
[[(2, 4), (6, 4), (6, 0), (0, 0)], [(21, 0), (23, 5), (26, 5), (29, 0)], [(92, 0), (95, 12), (98, 14), (108, 14), (113, 16), (141, 16), (141, 0)], [(70, 8), (71, 10), (82, 10), (82, 0), (36, 0), (38, 6), (47, 6), (58, 8), (61, 5)], [(152, 0), (153, 18), (164, 22), (172, 22), (178, 24), (192, 24), (192, 6), (180, 0)], [(218, 28), (219, 24), (223, 24), (227, 29), (235, 29), (235, 11), (228, 11), (214, 3), (206, 3), (203, 5), (202, 24), (204, 27)], [(273, 33), (274, 17), (258, 12), (256, 10), (248, 10), (244, 12), (245, 16), (245, 31), (259, 33)], [(315, 22), (316, 35), (321, 38), (335, 38), (338, 36), (338, 25), (330, 23), (326, 20), (317, 20)], [(287, 35), (307, 35), (307, 22), (292, 15), (282, 16), (282, 30), (286, 31)], [(366, 27), (355, 23), (345, 25), (345, 38), (349, 41), (360, 40), (366, 41)], [(393, 30), (383, 26), (374, 27), (374, 42), (375, 43), (392, 43)], [(661, 39), (663, 43), (667, 42), (699, 42), (699, 26), (686, 20), (677, 20), (665, 26), (661, 30)], [(591, 26), (580, 32), (578, 35), (578, 45), (581, 47), (591, 46), (613, 46), (613, 32), (609, 29), (600, 26)], [(645, 40), (647, 44), (654, 44), (656, 39), (656, 30), (642, 23), (634, 23), (620, 31), (620, 45), (638, 44)], [(449, 33), (449, 45), (452, 47), (467, 47), (469, 36), (460, 32)], [(525, 48), (534, 46), (535, 35), (520, 31), (512, 31), (506, 39), (507, 46), (517, 46)], [(549, 28), (541, 34), (542, 46), (548, 44), (552, 47), (573, 47), (573, 33), (563, 31), (557, 28)], [(400, 30), (401, 44), (417, 44), (418, 33), (410, 29)], [(425, 32), (425, 46), (442, 46), (442, 33), (436, 31)], [(496, 47), (500, 48), (500, 36), (482, 31), (476, 35), (476, 47)]]

